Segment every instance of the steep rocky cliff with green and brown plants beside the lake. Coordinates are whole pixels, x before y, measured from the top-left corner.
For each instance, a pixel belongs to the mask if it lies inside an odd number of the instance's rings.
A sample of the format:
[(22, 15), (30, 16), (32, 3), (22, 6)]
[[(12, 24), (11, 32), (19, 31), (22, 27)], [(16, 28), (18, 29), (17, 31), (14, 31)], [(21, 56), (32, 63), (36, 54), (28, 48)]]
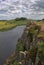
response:
[(29, 22), (4, 65), (44, 65), (44, 22)]

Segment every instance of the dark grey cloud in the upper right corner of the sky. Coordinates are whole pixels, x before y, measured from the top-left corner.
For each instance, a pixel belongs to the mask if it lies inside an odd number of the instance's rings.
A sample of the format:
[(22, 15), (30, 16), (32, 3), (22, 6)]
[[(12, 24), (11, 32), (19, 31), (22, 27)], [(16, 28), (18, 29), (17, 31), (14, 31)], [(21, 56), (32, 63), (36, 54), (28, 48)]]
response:
[(36, 1), (36, 4), (31, 5), (31, 7), (35, 11), (44, 11), (44, 0)]

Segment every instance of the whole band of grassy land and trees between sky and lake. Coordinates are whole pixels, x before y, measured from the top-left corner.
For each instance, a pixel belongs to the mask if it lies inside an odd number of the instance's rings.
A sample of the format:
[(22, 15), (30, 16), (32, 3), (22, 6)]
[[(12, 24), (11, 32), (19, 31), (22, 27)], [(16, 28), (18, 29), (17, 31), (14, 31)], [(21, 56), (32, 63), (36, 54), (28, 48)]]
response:
[(16, 18), (14, 20), (0, 20), (0, 31), (7, 31), (15, 28), (16, 26), (26, 25), (28, 22), (34, 22), (41, 26), (41, 30), (44, 30), (44, 21)]

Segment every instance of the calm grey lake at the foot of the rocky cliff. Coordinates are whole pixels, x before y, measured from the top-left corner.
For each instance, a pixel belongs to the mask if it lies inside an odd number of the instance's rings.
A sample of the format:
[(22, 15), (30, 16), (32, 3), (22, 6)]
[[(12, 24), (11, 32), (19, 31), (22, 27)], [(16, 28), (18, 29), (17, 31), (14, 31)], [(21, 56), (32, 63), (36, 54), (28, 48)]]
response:
[(0, 65), (3, 65), (5, 60), (15, 52), (16, 44), (24, 29), (25, 26), (17, 26), (12, 30), (0, 32)]

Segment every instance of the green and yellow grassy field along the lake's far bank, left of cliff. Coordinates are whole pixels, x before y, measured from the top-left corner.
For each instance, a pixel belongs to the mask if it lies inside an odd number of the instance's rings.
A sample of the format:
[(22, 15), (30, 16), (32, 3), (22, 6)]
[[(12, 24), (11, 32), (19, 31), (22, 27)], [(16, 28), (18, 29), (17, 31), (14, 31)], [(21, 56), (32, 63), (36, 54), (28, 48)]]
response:
[(9, 21), (0, 21), (0, 31), (7, 31), (15, 28), (16, 26), (26, 25), (28, 20), (9, 20)]

